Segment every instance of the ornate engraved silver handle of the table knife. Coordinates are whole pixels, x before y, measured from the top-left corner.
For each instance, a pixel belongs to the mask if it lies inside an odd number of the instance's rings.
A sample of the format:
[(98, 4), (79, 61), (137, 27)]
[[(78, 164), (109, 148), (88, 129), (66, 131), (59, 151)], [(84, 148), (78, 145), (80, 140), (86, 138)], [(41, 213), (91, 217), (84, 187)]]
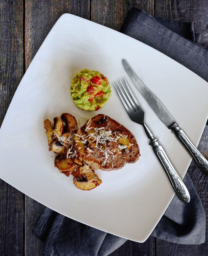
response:
[(208, 161), (207, 159), (199, 152), (198, 149), (193, 145), (191, 140), (186, 136), (184, 131), (182, 131), (178, 124), (174, 124), (170, 127), (172, 131), (175, 132), (176, 136), (180, 139), (180, 141), (184, 144), (186, 149), (191, 153), (193, 158), (195, 159), (196, 163), (200, 166), (200, 168), (208, 174)]

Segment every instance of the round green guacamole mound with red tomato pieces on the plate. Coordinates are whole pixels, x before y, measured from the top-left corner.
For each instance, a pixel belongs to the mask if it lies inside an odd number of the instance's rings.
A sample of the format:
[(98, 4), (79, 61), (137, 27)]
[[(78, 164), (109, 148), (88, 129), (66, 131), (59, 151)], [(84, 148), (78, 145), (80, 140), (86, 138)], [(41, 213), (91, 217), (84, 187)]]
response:
[(99, 71), (81, 70), (72, 80), (71, 97), (82, 110), (99, 110), (108, 101), (111, 89), (108, 79)]

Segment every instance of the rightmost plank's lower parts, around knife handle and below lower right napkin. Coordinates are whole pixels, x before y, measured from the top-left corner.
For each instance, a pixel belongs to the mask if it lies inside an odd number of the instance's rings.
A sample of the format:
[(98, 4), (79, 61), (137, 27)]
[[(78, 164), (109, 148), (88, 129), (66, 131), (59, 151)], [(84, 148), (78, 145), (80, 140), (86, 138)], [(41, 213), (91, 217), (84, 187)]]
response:
[[(203, 131), (198, 149), (208, 159), (208, 125)], [(188, 174), (198, 192), (201, 202), (206, 213), (206, 221), (208, 220), (208, 179), (207, 175), (202, 173), (198, 165), (192, 161)], [(208, 225), (206, 224), (206, 227)], [(200, 245), (184, 245), (170, 243), (164, 240), (156, 240), (156, 255), (157, 256), (205, 256), (208, 255), (208, 232), (206, 230), (206, 242)]]

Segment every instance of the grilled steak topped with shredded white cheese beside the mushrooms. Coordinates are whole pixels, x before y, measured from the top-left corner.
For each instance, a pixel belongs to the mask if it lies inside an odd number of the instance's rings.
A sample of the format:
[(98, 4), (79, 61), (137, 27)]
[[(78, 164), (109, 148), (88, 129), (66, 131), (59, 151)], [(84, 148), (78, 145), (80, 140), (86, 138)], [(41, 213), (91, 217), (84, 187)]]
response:
[(114, 119), (98, 114), (75, 136), (77, 157), (92, 170), (113, 171), (139, 159), (134, 135)]

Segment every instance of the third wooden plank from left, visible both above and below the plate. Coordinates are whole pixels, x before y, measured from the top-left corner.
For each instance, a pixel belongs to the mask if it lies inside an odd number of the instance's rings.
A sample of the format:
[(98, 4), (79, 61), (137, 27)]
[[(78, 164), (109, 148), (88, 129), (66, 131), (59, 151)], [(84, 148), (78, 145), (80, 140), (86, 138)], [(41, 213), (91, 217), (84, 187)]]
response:
[[(117, 31), (127, 15), (127, 12), (132, 8), (137, 7), (154, 15), (154, 0), (152, 1), (103, 1), (92, 0), (91, 20), (103, 26), (113, 28)], [(120, 248), (114, 251), (110, 256), (138, 256), (155, 255), (155, 238), (149, 237), (145, 243), (136, 243), (133, 241), (125, 242)]]

